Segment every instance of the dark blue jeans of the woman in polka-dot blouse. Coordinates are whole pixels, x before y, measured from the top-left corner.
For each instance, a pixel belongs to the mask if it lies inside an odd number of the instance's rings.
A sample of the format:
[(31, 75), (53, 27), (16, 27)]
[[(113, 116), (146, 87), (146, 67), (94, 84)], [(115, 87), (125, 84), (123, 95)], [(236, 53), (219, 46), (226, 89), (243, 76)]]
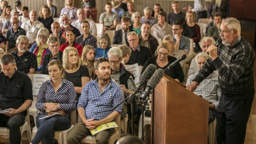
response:
[(32, 144), (38, 144), (42, 141), (43, 144), (53, 144), (55, 131), (63, 131), (69, 129), (71, 126), (70, 119), (64, 116), (52, 116), (47, 119), (39, 118), (44, 117), (43, 114), (37, 115), (37, 133), (32, 140)]

